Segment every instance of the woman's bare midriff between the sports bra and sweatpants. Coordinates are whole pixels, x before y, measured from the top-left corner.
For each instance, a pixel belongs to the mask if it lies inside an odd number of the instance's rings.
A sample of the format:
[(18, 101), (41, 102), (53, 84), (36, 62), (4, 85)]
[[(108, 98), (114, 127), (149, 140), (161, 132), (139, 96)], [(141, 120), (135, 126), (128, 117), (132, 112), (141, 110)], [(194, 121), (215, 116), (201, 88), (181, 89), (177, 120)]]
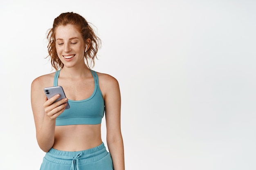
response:
[(52, 148), (80, 151), (94, 148), (101, 143), (101, 124), (56, 126)]

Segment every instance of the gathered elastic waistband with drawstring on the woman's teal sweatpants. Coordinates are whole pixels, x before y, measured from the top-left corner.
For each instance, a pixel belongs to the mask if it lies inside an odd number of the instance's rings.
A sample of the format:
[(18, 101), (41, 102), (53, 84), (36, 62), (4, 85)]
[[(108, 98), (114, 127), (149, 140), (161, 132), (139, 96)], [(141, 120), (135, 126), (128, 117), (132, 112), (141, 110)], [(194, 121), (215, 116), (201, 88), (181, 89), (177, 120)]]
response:
[(91, 163), (98, 161), (108, 155), (108, 151), (104, 143), (81, 151), (61, 151), (51, 148), (49, 152), (45, 154), (45, 159), (58, 164), (72, 165), (72, 170), (78, 169), (77, 164)]

